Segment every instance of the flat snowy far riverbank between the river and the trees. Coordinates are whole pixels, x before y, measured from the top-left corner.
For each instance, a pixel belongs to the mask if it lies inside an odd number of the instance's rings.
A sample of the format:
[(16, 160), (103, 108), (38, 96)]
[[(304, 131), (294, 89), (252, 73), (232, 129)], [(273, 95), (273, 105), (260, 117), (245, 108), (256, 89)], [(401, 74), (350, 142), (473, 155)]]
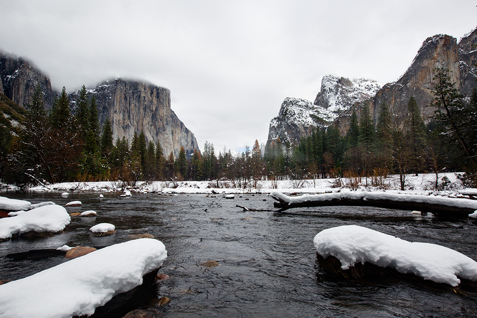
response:
[[(386, 191), (392, 193), (411, 193), (429, 195), (436, 194), (442, 196), (459, 196), (459, 189), (462, 188), (459, 179), (455, 173), (439, 174), (439, 182), (442, 185), (439, 191), (435, 190), (435, 174), (420, 174), (419, 176), (406, 176), (406, 189), (400, 190), (399, 176), (392, 175), (384, 179), (384, 187), (366, 187), (365, 178), (361, 179), (360, 185), (354, 187), (354, 190), (360, 191)], [(444, 178), (444, 184), (442, 184)], [(151, 181), (123, 183), (120, 181), (102, 181), (102, 182), (67, 182), (53, 185), (31, 187), (33, 191), (97, 191), (97, 192), (125, 192), (136, 193), (187, 193), (187, 194), (242, 194), (242, 193), (270, 193), (280, 191), (282, 193), (330, 193), (338, 192), (351, 183), (347, 178), (337, 180), (314, 179), (314, 180), (279, 180), (279, 181), (258, 181), (256, 187), (237, 187), (231, 181)], [(371, 184), (371, 178), (368, 178), (368, 184)], [(339, 186), (341, 185), (341, 186)], [(6, 187), (14, 188), (14, 187)]]

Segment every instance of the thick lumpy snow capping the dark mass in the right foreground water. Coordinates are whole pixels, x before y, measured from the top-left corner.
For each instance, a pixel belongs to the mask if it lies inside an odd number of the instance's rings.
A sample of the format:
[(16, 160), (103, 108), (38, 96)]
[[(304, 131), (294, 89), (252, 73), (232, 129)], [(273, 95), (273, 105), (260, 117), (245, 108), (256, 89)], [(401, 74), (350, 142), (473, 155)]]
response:
[(369, 262), (452, 286), (460, 283), (459, 278), (477, 281), (477, 262), (455, 250), (431, 243), (411, 243), (358, 225), (323, 230), (313, 242), (319, 255), (336, 257), (344, 270), (359, 262)]

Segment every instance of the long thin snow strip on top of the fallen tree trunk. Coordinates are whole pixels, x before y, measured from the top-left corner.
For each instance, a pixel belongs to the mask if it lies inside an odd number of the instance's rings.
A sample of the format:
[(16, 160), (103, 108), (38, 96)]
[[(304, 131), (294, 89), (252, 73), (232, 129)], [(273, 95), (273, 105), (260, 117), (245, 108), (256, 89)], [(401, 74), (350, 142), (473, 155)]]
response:
[(339, 199), (351, 200), (389, 200), (395, 202), (427, 203), (441, 206), (455, 206), (477, 209), (477, 200), (445, 198), (441, 196), (388, 193), (388, 192), (366, 192), (366, 191), (346, 191), (325, 194), (314, 194), (306, 196), (290, 197), (281, 192), (273, 191), (270, 196), (276, 197), (288, 204), (300, 204), (306, 202), (324, 202)]

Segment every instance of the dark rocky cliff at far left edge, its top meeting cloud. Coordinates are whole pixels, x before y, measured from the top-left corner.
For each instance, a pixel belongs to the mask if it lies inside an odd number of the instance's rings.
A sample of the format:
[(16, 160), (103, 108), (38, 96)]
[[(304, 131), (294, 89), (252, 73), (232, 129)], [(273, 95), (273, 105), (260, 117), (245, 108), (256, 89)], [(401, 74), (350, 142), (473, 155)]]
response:
[(31, 62), (0, 51), (0, 93), (28, 109), (37, 84), (43, 91), (46, 107), (50, 107), (55, 96), (50, 78)]

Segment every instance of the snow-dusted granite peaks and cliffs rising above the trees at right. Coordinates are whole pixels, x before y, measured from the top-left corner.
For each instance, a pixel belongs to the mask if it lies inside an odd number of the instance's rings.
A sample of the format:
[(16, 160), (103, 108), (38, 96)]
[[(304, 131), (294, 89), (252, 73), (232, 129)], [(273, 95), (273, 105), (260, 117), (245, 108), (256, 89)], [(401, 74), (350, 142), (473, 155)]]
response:
[[(446, 68), (451, 73), (451, 80), (459, 88), (461, 94), (470, 95), (477, 88), (477, 28), (469, 34), (457, 39), (448, 35), (428, 37), (419, 49), (416, 57), (397, 81), (384, 86), (374, 80), (358, 79), (350, 81), (348, 78), (336, 75), (325, 75), (322, 79), (321, 91), (316, 96), (313, 111), (311, 103), (292, 103), (287, 99), (283, 102), (280, 114), (270, 123), (267, 146), (276, 137), (291, 143), (306, 136), (316, 126), (327, 127), (331, 123), (336, 125), (342, 134), (349, 127), (349, 119), (353, 110), (358, 116), (363, 103), (369, 109), (377, 124), (378, 109), (381, 103), (386, 102), (396, 112), (407, 112), (407, 103), (414, 96), (421, 110), (424, 120), (434, 113), (427, 107), (434, 100), (434, 76), (436, 68)], [(308, 113), (304, 116), (287, 116), (288, 113), (304, 108)], [(292, 109), (290, 111), (290, 109)], [(329, 112), (323, 112), (325, 109)], [(302, 118), (313, 118), (313, 121)], [(317, 124), (318, 123), (318, 124)]]

